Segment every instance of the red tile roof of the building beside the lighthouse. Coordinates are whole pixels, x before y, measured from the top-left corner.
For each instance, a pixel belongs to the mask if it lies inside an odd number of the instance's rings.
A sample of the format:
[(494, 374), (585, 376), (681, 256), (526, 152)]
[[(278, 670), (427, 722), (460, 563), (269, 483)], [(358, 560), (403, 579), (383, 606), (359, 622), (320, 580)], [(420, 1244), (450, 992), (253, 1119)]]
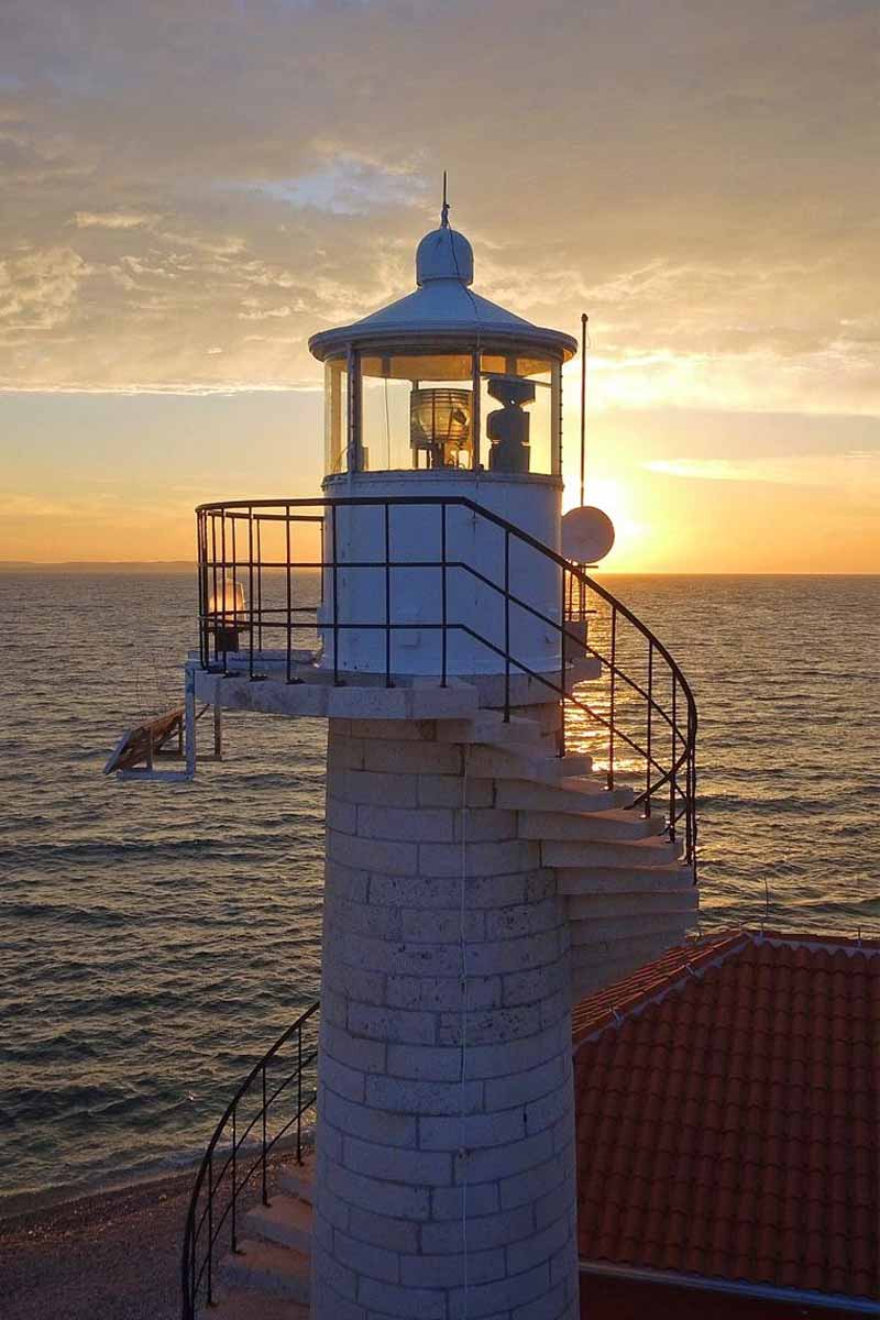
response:
[(880, 941), (694, 941), (574, 1041), (582, 1259), (880, 1295)]

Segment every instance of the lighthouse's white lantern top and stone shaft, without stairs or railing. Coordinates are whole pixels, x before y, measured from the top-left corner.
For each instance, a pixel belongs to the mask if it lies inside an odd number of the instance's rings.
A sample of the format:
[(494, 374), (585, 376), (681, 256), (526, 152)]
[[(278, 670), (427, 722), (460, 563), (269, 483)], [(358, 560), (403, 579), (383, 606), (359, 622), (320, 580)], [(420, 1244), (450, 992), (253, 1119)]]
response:
[[(526, 669), (561, 667), (545, 622), (561, 622), (557, 564), (463, 502), (558, 549), (561, 367), (577, 346), (472, 279), (443, 214), (416, 293), (310, 342), (327, 374), (325, 491), (380, 502), (336, 512), (322, 663), (424, 677), (426, 714), (438, 682), (500, 704), (513, 653), (520, 689)], [(334, 611), (381, 623), (387, 572), (404, 627), (334, 638)], [(508, 713), (525, 697), (508, 693)], [(315, 1320), (577, 1311), (567, 919), (492, 746), (553, 743), (553, 693), (528, 705), (525, 730), (476, 711), (330, 719)]]

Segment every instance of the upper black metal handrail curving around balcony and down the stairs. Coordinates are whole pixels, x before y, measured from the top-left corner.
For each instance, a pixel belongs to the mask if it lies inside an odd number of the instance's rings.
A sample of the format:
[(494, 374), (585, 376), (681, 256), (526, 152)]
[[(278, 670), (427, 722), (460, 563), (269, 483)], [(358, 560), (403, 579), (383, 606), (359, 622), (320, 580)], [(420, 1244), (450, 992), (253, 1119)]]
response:
[[(381, 507), (384, 510), (384, 558), (371, 561), (351, 561), (339, 558), (336, 540), (336, 510), (350, 506)], [(389, 550), (389, 515), (394, 507), (433, 506), (441, 510), (441, 558), (439, 560), (392, 560)], [(504, 533), (504, 581), (496, 582), (475, 565), (459, 558), (449, 558), (446, 516), (449, 508), (463, 508), (475, 517), (493, 524)], [(314, 512), (309, 512), (314, 511)], [(329, 515), (330, 536), (322, 537), (323, 552), (318, 558), (293, 560), (290, 553), (290, 524), (314, 523), (323, 527)], [(222, 503), (201, 504), (197, 508), (198, 544), (199, 544), (199, 623), (201, 623), (201, 661), (204, 668), (211, 668), (211, 638), (214, 636), (214, 664), (226, 665), (226, 653), (220, 653), (216, 647), (218, 623), (223, 627), (228, 623), (226, 609), (226, 595), (220, 610), (210, 612), (207, 609), (210, 586), (214, 587), (216, 601), (218, 572), (224, 577), (231, 568), (232, 574), (237, 570), (248, 573), (249, 605), (244, 611), (243, 627), (248, 634), (248, 672), (252, 678), (260, 677), (255, 669), (255, 659), (259, 660), (263, 651), (264, 630), (280, 628), (286, 632), (286, 680), (298, 681), (294, 673), (296, 665), (292, 659), (292, 632), (294, 627), (301, 627), (302, 615), (315, 615), (315, 607), (294, 606), (292, 598), (292, 572), (294, 569), (321, 569), (327, 570), (332, 579), (332, 619), (326, 624), (334, 636), (334, 680), (342, 682), (339, 669), (339, 634), (346, 630), (384, 630), (385, 632), (385, 682), (392, 684), (391, 669), (391, 634), (416, 631), (441, 631), (442, 645), (442, 673), (441, 682), (447, 678), (447, 635), (454, 631), (470, 635), (474, 640), (487, 647), (503, 661), (504, 671), (504, 715), (511, 715), (511, 678), (516, 671), (528, 675), (533, 680), (544, 684), (558, 700), (561, 706), (561, 737), (559, 752), (566, 751), (566, 719), (579, 713), (586, 726), (595, 731), (603, 731), (607, 737), (607, 781), (608, 787), (615, 787), (615, 779), (621, 774), (621, 763), (629, 756), (644, 763), (644, 785), (636, 793), (635, 800), (628, 805), (641, 808), (645, 816), (650, 816), (658, 799), (664, 801), (666, 809), (666, 832), (672, 840), (677, 838), (679, 822), (683, 821), (685, 833), (685, 862), (697, 867), (697, 704), (693, 692), (679, 665), (673, 659), (668, 648), (660, 639), (637, 618), (637, 615), (619, 601), (607, 587), (590, 577), (586, 570), (577, 564), (563, 558), (562, 554), (542, 544), (534, 536), (521, 531), (507, 521), (492, 510), (475, 503), (466, 496), (446, 495), (397, 495), (397, 496), (331, 496), (323, 499), (274, 499), (274, 500), (224, 500)], [(219, 521), (219, 537), (218, 537)], [(285, 558), (264, 560), (261, 554), (261, 525), (264, 523), (284, 521), (285, 528)], [(228, 523), (228, 536), (227, 536)], [(247, 523), (248, 546), (245, 554), (239, 554), (236, 537), (236, 524)], [(256, 527), (256, 537), (255, 537)], [(509, 556), (511, 543), (516, 541), (528, 545), (545, 561), (554, 564), (559, 569), (561, 609), (559, 618), (551, 618), (545, 611), (538, 610), (530, 602), (511, 587)], [(210, 544), (208, 544), (210, 543)], [(256, 560), (255, 560), (256, 546)], [(219, 552), (219, 554), (218, 554)], [(339, 569), (372, 568), (384, 569), (385, 574), (385, 618), (376, 623), (346, 623), (339, 618), (336, 576)], [(442, 570), (441, 586), (441, 618), (435, 623), (394, 622), (391, 611), (391, 569), (392, 568), (434, 568)], [(263, 605), (263, 572), (269, 569), (286, 570), (286, 605), (272, 607)], [(474, 627), (462, 620), (450, 619), (447, 609), (447, 574), (450, 570), (462, 570), (475, 581), (496, 593), (504, 601), (504, 645), (491, 642), (479, 634)], [(256, 576), (255, 576), (256, 573)], [(220, 578), (222, 579), (222, 578)], [(256, 602), (256, 603), (255, 603)], [(526, 611), (532, 616), (555, 632), (559, 638), (559, 673), (550, 676), (537, 673), (511, 651), (509, 611), (515, 606)], [(608, 643), (603, 648), (598, 627), (598, 614), (604, 611), (607, 616)], [(276, 618), (281, 615), (281, 618)], [(583, 635), (574, 640), (573, 623), (583, 626)], [(636, 676), (628, 659), (624, 659), (627, 636), (624, 628), (640, 639), (643, 648), (641, 667), (645, 676)], [(256, 643), (256, 644), (255, 644)], [(567, 663), (575, 649), (592, 656), (599, 663), (600, 678), (607, 684), (607, 708), (598, 709), (598, 702), (587, 702), (579, 694), (569, 690), (566, 678)], [(660, 694), (660, 696), (658, 696)], [(636, 702), (643, 709), (641, 721), (637, 730), (628, 725), (632, 714), (632, 705)], [(623, 767), (625, 771), (625, 767)]]

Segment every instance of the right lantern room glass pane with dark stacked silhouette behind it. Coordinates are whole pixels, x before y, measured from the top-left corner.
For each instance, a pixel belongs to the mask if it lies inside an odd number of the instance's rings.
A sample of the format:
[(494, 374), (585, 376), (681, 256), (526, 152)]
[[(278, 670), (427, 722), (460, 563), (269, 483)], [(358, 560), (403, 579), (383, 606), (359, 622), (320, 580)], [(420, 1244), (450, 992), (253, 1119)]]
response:
[(559, 474), (559, 364), (534, 354), (480, 355), (480, 462), (488, 471)]

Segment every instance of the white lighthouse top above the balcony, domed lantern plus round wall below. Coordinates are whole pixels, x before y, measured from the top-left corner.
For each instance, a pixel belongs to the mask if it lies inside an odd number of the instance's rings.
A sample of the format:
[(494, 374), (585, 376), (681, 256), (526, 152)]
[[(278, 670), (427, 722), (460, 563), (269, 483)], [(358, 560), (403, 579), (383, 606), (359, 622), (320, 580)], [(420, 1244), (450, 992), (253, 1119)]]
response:
[(325, 628), (323, 663), (351, 672), (387, 667), (376, 611), (388, 586), (398, 623), (394, 673), (500, 672), (511, 620), (497, 591), (462, 572), (445, 574), (447, 619), (458, 626), (443, 665), (434, 605), (446, 560), (475, 565), (495, 583), (515, 581), (520, 659), (536, 672), (558, 669), (558, 635), (541, 623), (542, 615), (561, 622), (557, 568), (522, 540), (509, 554), (497, 524), (475, 519), (463, 502), (559, 549), (562, 364), (577, 341), (472, 290), (471, 244), (449, 226), (446, 206), (441, 226), (418, 244), (416, 281), (416, 292), (391, 306), (310, 339), (325, 363), (323, 490), (384, 502), (342, 504), (326, 528), (335, 553), (325, 546), (325, 561), (334, 560), (336, 572), (335, 579), (326, 574), (322, 622), (335, 610), (336, 619), (373, 627)]

